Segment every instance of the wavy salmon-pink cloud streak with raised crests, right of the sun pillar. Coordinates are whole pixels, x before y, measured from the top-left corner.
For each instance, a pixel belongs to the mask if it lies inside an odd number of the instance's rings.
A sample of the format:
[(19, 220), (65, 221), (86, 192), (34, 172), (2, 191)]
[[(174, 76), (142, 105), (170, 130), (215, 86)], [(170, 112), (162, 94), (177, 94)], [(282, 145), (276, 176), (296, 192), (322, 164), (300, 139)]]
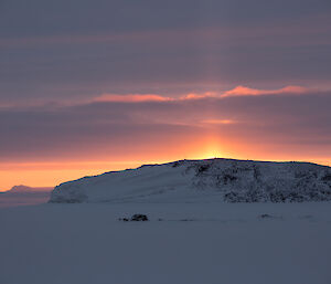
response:
[(278, 90), (258, 90), (245, 86), (236, 86), (233, 90), (226, 91), (221, 96), (259, 96), (259, 95), (277, 95), (277, 94), (305, 94), (308, 93), (309, 88), (301, 86), (286, 86)]

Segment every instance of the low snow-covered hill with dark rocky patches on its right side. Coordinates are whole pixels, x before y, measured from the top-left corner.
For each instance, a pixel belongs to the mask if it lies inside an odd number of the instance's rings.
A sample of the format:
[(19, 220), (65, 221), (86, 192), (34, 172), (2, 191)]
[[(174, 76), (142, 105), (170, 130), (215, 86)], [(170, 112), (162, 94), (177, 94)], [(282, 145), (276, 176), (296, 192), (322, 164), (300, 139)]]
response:
[(62, 183), (50, 202), (331, 200), (331, 168), (309, 162), (180, 160)]

